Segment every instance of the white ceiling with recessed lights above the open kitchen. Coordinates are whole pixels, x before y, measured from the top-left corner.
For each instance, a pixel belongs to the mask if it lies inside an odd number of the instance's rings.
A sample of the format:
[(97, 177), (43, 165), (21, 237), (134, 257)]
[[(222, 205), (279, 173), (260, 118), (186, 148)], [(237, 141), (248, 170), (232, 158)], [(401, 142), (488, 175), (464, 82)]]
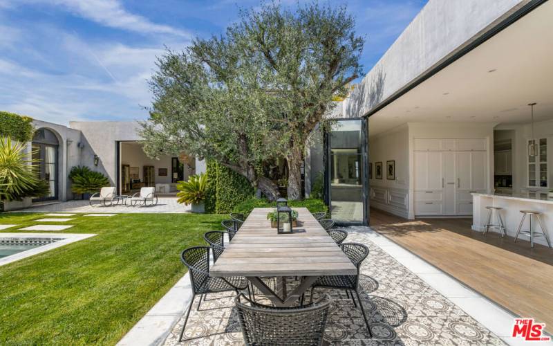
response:
[(369, 134), (405, 122), (553, 118), (553, 1), (547, 1), (369, 118)]

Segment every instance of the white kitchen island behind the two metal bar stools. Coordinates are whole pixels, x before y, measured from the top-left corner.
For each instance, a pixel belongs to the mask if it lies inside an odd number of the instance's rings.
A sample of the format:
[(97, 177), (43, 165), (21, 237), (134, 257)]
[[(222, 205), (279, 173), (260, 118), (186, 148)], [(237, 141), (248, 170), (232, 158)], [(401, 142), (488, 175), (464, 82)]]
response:
[[(541, 220), (545, 227), (545, 232), (553, 239), (553, 199), (547, 199), (544, 197), (534, 197), (534, 195), (540, 196), (540, 194), (514, 194), (513, 196), (501, 196), (498, 194), (472, 194), (472, 229), (480, 232), (484, 231), (487, 221), (488, 210), (487, 206), (502, 207), (500, 210), (501, 217), (507, 228), (507, 235), (514, 237), (516, 229), (521, 223), (521, 210), (536, 210), (541, 212)], [(542, 195), (543, 196), (543, 195)], [(523, 225), (523, 230), (528, 230), (528, 219), (526, 217)], [(495, 215), (491, 221), (492, 224), (498, 224)], [(538, 222), (533, 219), (532, 226), (537, 233), (540, 233), (540, 227)], [(495, 228), (490, 228), (490, 232), (498, 232)], [(521, 235), (519, 239), (528, 240), (528, 237)], [(534, 242), (547, 246), (547, 242), (543, 237), (534, 237)]]

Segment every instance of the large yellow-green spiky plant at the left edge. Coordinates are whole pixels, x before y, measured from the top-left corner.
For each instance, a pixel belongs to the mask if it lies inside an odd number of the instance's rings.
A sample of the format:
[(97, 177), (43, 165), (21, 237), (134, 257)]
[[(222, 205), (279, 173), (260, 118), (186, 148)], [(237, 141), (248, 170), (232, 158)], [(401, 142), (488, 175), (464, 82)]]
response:
[(18, 201), (24, 197), (41, 197), (50, 192), (48, 183), (39, 179), (37, 163), (26, 153), (26, 144), (0, 139), (0, 200)]

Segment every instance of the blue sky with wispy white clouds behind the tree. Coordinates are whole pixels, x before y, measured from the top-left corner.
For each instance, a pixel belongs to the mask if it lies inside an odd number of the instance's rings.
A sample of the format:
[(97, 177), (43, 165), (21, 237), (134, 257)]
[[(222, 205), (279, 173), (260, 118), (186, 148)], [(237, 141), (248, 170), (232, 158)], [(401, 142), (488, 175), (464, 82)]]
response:
[[(366, 39), (368, 72), (427, 0), (340, 0)], [(164, 46), (223, 33), (238, 5), (217, 0), (0, 0), (0, 110), (66, 125), (142, 120)], [(296, 0), (281, 1), (295, 6)]]

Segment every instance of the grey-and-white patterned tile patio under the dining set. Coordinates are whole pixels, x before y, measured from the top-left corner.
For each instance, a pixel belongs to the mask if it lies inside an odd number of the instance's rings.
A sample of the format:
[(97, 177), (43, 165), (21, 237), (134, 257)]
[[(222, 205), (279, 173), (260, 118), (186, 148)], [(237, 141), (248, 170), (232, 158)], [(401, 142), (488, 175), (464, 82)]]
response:
[[(371, 242), (363, 233), (350, 233), (347, 242), (361, 242), (370, 254), (361, 269), (360, 285), (365, 311), (375, 338), (369, 339), (362, 314), (343, 291), (317, 289), (332, 297), (325, 331), (330, 345), (504, 345), (453, 302)], [(290, 282), (293, 285), (294, 282)], [(182, 345), (243, 345), (231, 293), (208, 295), (196, 311), (198, 297)], [(179, 345), (181, 319), (165, 340)]]

